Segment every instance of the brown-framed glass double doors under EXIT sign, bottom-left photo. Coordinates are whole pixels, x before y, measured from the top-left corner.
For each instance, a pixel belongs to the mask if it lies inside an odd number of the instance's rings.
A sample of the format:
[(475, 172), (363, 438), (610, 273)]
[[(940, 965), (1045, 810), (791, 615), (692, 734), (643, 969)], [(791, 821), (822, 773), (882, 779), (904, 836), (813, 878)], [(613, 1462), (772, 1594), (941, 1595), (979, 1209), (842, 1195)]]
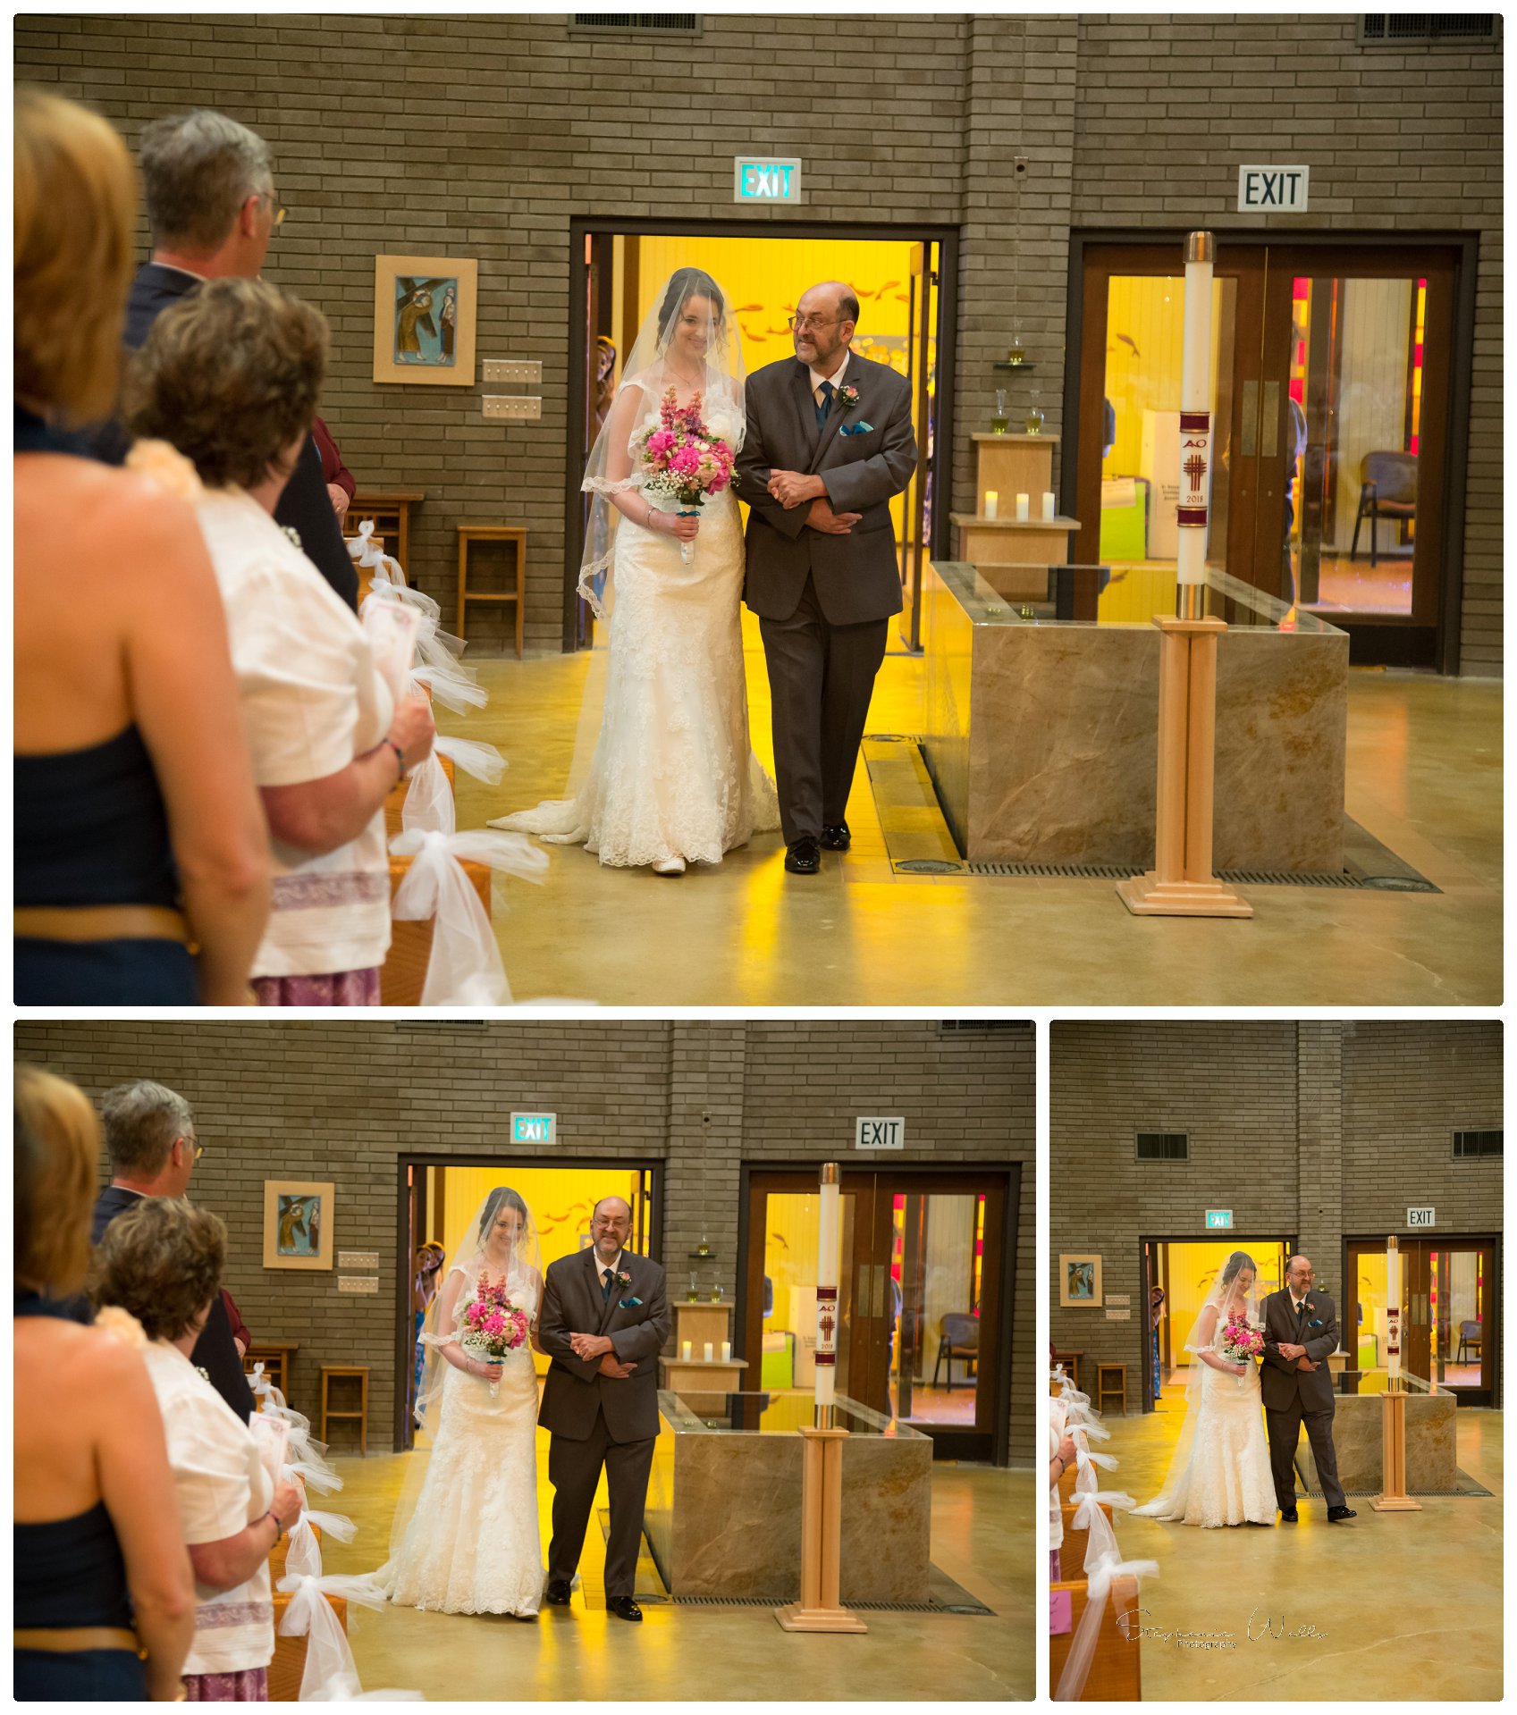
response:
[[(994, 1458), (1007, 1175), (844, 1170), (839, 1202), (837, 1391), (930, 1435), (937, 1458)], [(813, 1386), (819, 1216), (815, 1173), (752, 1176), (748, 1389)]]

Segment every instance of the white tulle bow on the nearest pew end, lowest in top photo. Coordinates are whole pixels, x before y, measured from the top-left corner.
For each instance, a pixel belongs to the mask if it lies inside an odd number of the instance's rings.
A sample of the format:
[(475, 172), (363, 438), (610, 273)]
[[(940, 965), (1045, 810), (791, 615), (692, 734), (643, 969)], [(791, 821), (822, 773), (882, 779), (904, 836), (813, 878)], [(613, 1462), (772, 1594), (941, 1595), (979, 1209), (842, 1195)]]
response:
[(410, 858), (405, 880), (395, 890), (391, 916), (396, 921), (432, 918), (432, 954), (422, 986), (424, 1007), (510, 1005), (511, 986), (496, 945), (494, 928), (463, 870), (463, 861), (482, 863), (523, 882), (542, 882), (547, 852), (522, 833), (467, 828), (463, 833), (408, 828), (390, 849)]

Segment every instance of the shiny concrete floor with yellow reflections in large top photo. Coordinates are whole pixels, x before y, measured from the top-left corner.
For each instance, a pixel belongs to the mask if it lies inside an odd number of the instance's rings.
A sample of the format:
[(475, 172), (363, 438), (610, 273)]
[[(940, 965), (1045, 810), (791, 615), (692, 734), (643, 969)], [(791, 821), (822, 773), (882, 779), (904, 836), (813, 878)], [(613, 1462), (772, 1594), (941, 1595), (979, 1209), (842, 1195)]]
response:
[[(769, 686), (745, 616), (753, 746)], [(460, 775), (458, 825), (559, 796), (585, 657), (480, 660), (489, 707), (443, 727), (496, 743), (498, 787)], [(923, 664), (887, 657), (868, 731), (920, 731)], [(860, 765), (853, 851), (788, 876), (777, 833), (680, 878), (549, 847), (541, 887), (496, 882), (518, 1002), (693, 1007), (1498, 1005), (1502, 686), (1354, 672), (1349, 815), (1441, 894), (1254, 888), (1251, 923), (1136, 919), (1110, 882), (898, 876)]]

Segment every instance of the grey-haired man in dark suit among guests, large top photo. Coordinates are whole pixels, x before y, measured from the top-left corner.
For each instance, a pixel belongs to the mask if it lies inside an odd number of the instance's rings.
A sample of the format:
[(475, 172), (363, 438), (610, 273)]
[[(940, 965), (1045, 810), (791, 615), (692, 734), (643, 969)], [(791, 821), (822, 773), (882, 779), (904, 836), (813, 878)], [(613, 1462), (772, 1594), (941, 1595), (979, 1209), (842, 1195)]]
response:
[[(163, 310), (204, 280), (257, 280), (285, 211), (275, 196), (269, 146), (225, 113), (156, 118), (139, 142), (153, 256), (127, 297), (127, 350), (136, 352)], [(122, 448), (122, 456), (125, 446)], [(341, 539), (321, 473), (321, 449), (305, 437), (275, 523), (292, 528), (305, 557), (357, 611), (359, 575)]]

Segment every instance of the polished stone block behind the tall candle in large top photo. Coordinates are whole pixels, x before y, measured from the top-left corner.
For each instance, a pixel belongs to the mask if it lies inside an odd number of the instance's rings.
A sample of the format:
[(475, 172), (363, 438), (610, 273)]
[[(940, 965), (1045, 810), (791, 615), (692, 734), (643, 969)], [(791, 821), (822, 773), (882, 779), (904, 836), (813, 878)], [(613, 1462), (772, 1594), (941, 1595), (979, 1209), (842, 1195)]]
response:
[[(1024, 621), (973, 566), (928, 564), (922, 751), (959, 851), (1153, 866), (1158, 631)], [(1222, 870), (1344, 868), (1349, 638), (1234, 624), (1217, 648)]]

